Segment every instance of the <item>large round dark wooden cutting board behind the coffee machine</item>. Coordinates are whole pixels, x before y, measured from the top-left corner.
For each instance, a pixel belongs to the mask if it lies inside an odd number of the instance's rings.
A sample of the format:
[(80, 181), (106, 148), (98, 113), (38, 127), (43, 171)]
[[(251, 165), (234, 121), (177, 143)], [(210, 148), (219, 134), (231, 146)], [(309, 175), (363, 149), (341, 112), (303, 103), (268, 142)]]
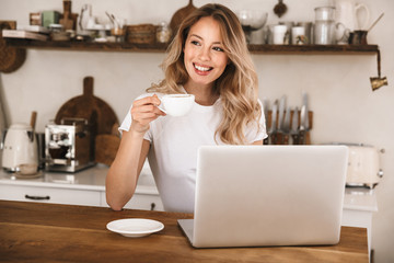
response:
[(62, 118), (84, 118), (92, 127), (92, 135), (112, 134), (119, 122), (113, 108), (103, 100), (93, 95), (93, 78), (83, 79), (83, 94), (67, 101), (55, 117), (56, 124)]

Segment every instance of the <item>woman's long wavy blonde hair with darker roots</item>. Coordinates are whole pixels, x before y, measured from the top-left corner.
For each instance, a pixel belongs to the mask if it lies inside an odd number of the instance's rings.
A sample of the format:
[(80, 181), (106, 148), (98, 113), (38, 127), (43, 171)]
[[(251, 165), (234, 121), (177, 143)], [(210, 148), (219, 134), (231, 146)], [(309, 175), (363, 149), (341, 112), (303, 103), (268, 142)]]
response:
[(247, 49), (245, 35), (236, 15), (222, 4), (206, 4), (190, 13), (169, 46), (162, 64), (165, 78), (152, 84), (148, 92), (181, 93), (181, 85), (188, 80), (183, 49), (190, 27), (201, 18), (211, 16), (220, 25), (222, 45), (229, 65), (216, 80), (215, 92), (220, 95), (223, 117), (216, 136), (224, 144), (246, 144), (245, 129), (250, 125), (259, 129), (262, 107), (258, 103), (257, 75)]

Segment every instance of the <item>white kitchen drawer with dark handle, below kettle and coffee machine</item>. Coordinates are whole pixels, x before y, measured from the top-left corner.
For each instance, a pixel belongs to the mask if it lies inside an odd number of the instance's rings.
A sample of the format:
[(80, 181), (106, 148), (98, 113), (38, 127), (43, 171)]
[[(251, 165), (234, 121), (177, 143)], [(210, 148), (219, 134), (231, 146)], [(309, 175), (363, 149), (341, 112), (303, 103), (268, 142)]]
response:
[(0, 199), (100, 206), (100, 192), (40, 186), (0, 185)]

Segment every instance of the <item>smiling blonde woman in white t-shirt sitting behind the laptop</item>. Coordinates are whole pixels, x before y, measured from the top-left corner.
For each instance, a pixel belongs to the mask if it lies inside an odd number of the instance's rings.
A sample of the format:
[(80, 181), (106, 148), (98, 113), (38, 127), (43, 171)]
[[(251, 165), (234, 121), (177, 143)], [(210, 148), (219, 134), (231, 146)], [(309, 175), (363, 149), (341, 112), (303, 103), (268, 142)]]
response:
[[(163, 62), (165, 78), (132, 103), (106, 180), (119, 210), (131, 198), (148, 157), (167, 211), (194, 211), (197, 149), (201, 145), (263, 145), (267, 137), (257, 77), (236, 15), (206, 4), (181, 25)], [(192, 112), (165, 115), (166, 93), (195, 95)]]

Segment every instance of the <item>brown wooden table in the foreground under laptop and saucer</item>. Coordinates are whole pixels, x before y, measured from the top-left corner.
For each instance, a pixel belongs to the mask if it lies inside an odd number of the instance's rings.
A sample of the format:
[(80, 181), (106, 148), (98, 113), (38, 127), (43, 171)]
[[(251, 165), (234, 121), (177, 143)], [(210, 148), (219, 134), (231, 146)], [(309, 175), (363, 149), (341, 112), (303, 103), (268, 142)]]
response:
[[(164, 229), (125, 238), (106, 229), (121, 218), (150, 218)], [(176, 219), (190, 214), (0, 201), (1, 262), (368, 262), (367, 231), (343, 227), (327, 247), (194, 249)]]

